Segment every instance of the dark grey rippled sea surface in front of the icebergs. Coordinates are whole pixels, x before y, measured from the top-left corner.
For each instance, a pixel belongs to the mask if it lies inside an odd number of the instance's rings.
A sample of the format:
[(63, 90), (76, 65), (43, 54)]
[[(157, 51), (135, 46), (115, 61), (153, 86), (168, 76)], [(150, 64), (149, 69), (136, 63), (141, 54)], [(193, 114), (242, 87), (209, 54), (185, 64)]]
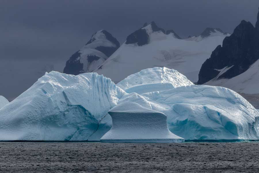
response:
[(0, 142), (0, 172), (258, 172), (259, 141)]

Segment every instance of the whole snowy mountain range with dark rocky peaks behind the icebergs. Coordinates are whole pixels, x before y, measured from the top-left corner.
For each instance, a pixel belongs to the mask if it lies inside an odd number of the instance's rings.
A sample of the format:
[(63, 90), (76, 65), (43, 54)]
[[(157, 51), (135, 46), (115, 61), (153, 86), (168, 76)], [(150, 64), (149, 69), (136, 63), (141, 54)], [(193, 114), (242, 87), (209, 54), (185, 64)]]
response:
[(259, 108), (259, 13), (257, 18), (255, 27), (242, 20), (232, 34), (206, 28), (186, 39), (145, 23), (121, 46), (101, 30), (71, 56), (64, 73), (97, 72), (118, 83), (142, 69), (167, 67), (193, 83), (232, 89)]

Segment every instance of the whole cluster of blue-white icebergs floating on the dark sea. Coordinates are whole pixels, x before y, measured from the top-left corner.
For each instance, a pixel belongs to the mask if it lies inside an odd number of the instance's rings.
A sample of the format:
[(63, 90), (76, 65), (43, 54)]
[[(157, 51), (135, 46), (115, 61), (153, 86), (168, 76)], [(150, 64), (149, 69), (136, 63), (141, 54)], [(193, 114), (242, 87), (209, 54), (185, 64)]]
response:
[(52, 71), (0, 109), (0, 140), (258, 140), (258, 117), (238, 93), (193, 85), (165, 67), (145, 69), (118, 86), (97, 73)]

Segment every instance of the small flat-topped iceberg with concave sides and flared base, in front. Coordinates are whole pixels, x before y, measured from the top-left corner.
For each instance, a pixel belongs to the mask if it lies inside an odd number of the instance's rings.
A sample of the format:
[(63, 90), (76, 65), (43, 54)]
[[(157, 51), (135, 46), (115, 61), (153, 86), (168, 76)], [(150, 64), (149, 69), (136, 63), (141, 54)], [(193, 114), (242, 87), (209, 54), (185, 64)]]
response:
[(112, 128), (101, 138), (102, 142), (184, 142), (167, 128), (167, 116), (144, 108), (134, 102), (123, 102), (108, 112)]

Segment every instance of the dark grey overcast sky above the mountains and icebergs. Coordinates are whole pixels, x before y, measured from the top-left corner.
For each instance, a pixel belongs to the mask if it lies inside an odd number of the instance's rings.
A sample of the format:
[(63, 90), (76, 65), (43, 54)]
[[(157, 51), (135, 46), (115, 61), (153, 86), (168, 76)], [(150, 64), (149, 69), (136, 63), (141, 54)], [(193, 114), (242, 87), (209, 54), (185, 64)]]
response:
[(9, 100), (45, 71), (62, 72), (98, 30), (106, 29), (121, 44), (151, 21), (183, 38), (206, 27), (232, 33), (241, 20), (255, 25), (259, 7), (258, 0), (0, 1), (0, 95)]

